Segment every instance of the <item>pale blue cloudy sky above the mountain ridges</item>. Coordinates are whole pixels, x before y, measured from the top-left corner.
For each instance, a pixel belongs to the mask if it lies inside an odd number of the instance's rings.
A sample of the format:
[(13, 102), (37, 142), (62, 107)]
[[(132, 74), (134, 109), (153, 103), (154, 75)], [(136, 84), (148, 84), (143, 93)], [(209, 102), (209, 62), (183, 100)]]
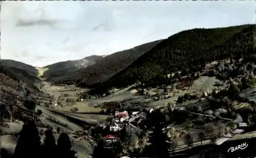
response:
[(255, 23), (255, 1), (2, 1), (1, 58), (36, 67)]

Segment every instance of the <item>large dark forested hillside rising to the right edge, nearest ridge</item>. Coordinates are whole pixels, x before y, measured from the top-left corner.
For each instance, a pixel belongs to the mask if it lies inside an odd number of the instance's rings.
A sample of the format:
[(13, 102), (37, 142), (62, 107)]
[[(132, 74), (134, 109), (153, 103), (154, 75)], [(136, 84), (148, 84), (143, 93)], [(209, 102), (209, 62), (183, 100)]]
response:
[[(177, 70), (197, 71), (200, 63), (230, 56), (251, 56), (254, 24), (216, 29), (182, 31), (161, 41), (129, 67), (98, 85), (99, 90), (125, 87), (137, 81), (158, 80), (158, 77)], [(80, 86), (85, 86), (83, 83)]]

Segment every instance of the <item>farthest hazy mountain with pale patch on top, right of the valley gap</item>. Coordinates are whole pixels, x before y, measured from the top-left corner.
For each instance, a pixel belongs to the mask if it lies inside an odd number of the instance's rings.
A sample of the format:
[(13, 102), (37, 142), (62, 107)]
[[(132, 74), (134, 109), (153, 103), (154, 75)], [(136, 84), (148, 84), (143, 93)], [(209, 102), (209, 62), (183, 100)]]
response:
[(69, 60), (54, 63), (44, 67), (48, 68), (48, 70), (45, 71), (42, 77), (46, 78), (46, 81), (58, 81), (61, 80), (63, 76), (67, 76), (67, 74), (70, 74), (75, 70), (83, 69), (90, 65), (93, 65), (102, 58), (102, 56), (90, 56), (80, 60)]

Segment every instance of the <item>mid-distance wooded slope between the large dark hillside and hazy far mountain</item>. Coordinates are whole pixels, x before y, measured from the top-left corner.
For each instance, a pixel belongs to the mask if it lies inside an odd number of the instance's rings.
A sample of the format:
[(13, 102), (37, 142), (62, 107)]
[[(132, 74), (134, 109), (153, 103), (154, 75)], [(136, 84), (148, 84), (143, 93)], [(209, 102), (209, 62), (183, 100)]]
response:
[(104, 57), (94, 65), (68, 74), (62, 82), (71, 84), (76, 81), (76, 83), (82, 83), (84, 86), (91, 86), (99, 82), (104, 82), (114, 74), (129, 66), (161, 41), (162, 40), (153, 41), (136, 46), (132, 49), (115, 52), (114, 54)]

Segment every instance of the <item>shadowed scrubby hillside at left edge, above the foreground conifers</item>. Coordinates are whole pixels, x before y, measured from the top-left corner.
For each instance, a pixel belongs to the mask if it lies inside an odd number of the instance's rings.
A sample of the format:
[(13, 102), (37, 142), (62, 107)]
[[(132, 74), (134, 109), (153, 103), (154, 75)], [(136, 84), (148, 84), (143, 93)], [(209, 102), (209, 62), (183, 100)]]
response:
[[(34, 86), (33, 81), (29, 80), (31, 74), (25, 80), (25, 77), (20, 77), (21, 75), (17, 74), (20, 72), (26, 71), (23, 69), (11, 71), (6, 66), (0, 66), (0, 124), (3, 118), (22, 120), (29, 116), (31, 107), (35, 107), (26, 101), (34, 101), (36, 99), (35, 94), (40, 94), (40, 91)], [(26, 72), (25, 74), (29, 73)]]

